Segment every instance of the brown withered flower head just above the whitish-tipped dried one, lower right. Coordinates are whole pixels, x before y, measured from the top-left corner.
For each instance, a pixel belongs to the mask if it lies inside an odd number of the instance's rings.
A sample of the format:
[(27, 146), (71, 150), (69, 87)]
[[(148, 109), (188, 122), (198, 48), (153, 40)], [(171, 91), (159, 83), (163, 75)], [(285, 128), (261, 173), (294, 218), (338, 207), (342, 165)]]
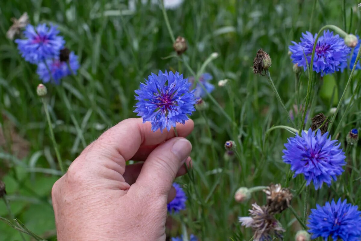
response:
[(267, 207), (272, 214), (279, 214), (290, 206), (293, 198), (290, 189), (282, 188), (280, 184), (271, 184), (263, 190), (267, 195)]

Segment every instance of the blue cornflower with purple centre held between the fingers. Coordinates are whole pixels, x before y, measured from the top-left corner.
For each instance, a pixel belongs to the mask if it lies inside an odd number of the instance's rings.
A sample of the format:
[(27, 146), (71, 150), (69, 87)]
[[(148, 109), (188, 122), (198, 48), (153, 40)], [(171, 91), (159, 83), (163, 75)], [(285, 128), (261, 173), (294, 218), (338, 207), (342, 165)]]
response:
[(138, 103), (134, 112), (142, 116), (143, 122), (151, 122), (153, 132), (158, 129), (163, 132), (164, 128), (169, 131), (177, 122), (184, 124), (189, 119), (187, 115), (195, 111), (195, 90), (190, 91), (190, 86), (188, 79), (178, 72), (159, 70), (158, 76), (152, 73), (135, 91)]

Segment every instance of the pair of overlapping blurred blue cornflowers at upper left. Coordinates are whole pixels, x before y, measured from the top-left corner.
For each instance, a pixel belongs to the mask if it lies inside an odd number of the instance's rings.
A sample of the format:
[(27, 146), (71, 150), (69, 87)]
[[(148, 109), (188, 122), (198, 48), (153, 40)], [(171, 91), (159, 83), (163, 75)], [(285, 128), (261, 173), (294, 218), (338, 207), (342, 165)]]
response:
[[(71, 52), (69, 61), (60, 61), (60, 51), (64, 48), (65, 40), (59, 36), (59, 30), (52, 24), (45, 23), (34, 27), (27, 25), (23, 31), (25, 39), (16, 39), (21, 56), (32, 64), (37, 64), (37, 73), (44, 83), (60, 83), (60, 79), (76, 74), (79, 69), (78, 57)], [(69, 66), (70, 68), (69, 68)]]

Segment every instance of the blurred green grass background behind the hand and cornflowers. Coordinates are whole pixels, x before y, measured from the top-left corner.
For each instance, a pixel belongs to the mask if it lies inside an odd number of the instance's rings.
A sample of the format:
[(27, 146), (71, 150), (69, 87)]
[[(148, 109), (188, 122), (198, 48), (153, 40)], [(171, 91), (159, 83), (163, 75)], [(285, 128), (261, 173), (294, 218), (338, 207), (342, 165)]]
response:
[[(300, 74), (296, 83), (287, 54), (290, 41), (298, 42), (301, 33), (307, 30), (317, 33), (326, 24), (355, 34), (360, 29), (357, 1), (316, 2), (312, 20), (314, 0), (185, 0), (178, 9), (167, 10), (175, 36), (187, 39), (184, 59), (194, 71), (199, 70), (211, 53), (219, 53), (205, 71), (214, 77), (212, 83), (216, 89), (212, 96), (236, 123), (233, 126), (209, 98), (205, 98), (208, 109), (193, 113), (195, 130), (190, 135), (193, 178), (178, 178), (187, 191), (188, 202), (187, 210), (174, 216), (174, 225), (168, 231), (171, 236), (182, 232), (180, 223), (183, 222), (188, 233), (196, 234), (202, 241), (252, 238), (250, 229), (240, 227), (238, 216), (248, 215), (253, 202), (264, 204), (265, 195), (255, 193), (250, 201), (239, 204), (234, 201), (234, 193), (240, 186), (284, 184), (289, 165), (282, 162), (282, 149), (292, 136), (276, 129), (265, 139), (271, 126), (290, 126), (290, 122), (266, 77), (253, 75), (253, 57), (260, 48), (269, 53), (271, 76), (286, 107), (291, 109), (305, 97), (308, 76)], [(35, 73), (36, 66), (26, 63), (18, 54), (16, 44), (5, 37), (10, 18), (18, 18), (23, 12), (29, 14), (34, 25), (56, 23), (66, 46), (79, 56), (81, 63), (78, 79), (69, 76), (60, 86), (46, 85), (48, 109), (66, 165), (82, 151), (83, 144), (89, 144), (117, 122), (136, 116), (134, 90), (148, 74), (159, 69), (178, 70), (185, 77), (191, 73), (175, 57), (157, 5), (138, 3), (136, 11), (131, 11), (126, 0), (0, 2), (0, 119), (4, 139), (0, 142), (0, 178), (6, 183), (16, 217), (34, 233), (56, 240), (50, 192), (60, 176), (44, 109), (36, 96), (40, 80)], [(336, 106), (349, 73), (350, 70), (345, 70), (327, 79), (316, 77), (310, 117), (319, 112), (327, 115), (329, 109)], [(356, 71), (345, 103), (360, 77)], [(230, 79), (229, 86), (218, 87), (217, 82), (225, 78)], [(335, 101), (331, 100), (334, 91), (338, 92), (338, 96), (333, 95)], [(345, 136), (361, 122), (360, 95), (357, 98), (338, 135), (344, 149)], [(332, 130), (342, 114), (343, 108)], [(74, 120), (83, 132), (83, 141)], [(309, 126), (310, 120), (306, 128)], [(21, 143), (29, 149), (26, 155), (16, 151), (25, 149), (19, 147), (11, 133), (22, 138)], [(224, 158), (223, 144), (228, 139), (238, 144), (238, 155), (232, 160)], [(359, 160), (360, 148), (351, 149), (347, 171), (337, 182), (330, 188), (324, 185), (318, 191), (312, 186), (310, 207), (339, 197), (360, 205)], [(304, 206), (303, 180), (302, 176), (290, 180), (295, 196), (292, 206), (300, 216)], [(0, 216), (10, 218), (3, 202), (0, 202)], [(301, 229), (295, 217), (286, 210), (277, 218), (286, 229), (285, 240), (293, 240), (296, 231)], [(21, 237), (0, 223), (0, 240), (14, 241)], [(26, 240), (30, 237), (26, 236)]]

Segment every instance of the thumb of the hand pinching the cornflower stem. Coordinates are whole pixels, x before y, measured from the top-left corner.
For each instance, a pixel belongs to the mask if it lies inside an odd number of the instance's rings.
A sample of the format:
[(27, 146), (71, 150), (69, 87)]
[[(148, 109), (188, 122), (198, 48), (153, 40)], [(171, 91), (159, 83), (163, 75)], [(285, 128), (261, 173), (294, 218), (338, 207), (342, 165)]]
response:
[(164, 142), (149, 154), (136, 183), (161, 195), (168, 195), (179, 168), (191, 150), (191, 142), (183, 137)]

